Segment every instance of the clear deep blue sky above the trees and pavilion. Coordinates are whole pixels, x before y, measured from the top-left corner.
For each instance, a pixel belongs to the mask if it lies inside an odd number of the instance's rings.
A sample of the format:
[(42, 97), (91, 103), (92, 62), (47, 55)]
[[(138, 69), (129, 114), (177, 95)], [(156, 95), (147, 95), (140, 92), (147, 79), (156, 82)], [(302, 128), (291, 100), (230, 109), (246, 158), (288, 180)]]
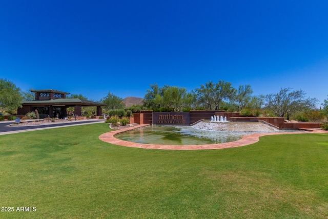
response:
[(328, 98), (328, 1), (2, 1), (0, 78), (99, 101), (223, 80)]

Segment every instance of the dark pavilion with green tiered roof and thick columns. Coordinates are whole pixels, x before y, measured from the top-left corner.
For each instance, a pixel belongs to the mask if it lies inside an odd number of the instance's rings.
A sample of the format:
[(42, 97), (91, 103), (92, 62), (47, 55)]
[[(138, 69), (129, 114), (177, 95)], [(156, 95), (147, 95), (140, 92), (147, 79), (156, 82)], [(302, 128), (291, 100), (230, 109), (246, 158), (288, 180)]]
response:
[(101, 104), (79, 98), (66, 98), (67, 92), (58, 90), (30, 90), (35, 93), (33, 101), (23, 102), (23, 107), (17, 109), (18, 115), (25, 115), (28, 112), (37, 110), (40, 118), (44, 117), (67, 117), (67, 108), (74, 107), (74, 114), (81, 116), (82, 107), (97, 107), (96, 115), (101, 115)]

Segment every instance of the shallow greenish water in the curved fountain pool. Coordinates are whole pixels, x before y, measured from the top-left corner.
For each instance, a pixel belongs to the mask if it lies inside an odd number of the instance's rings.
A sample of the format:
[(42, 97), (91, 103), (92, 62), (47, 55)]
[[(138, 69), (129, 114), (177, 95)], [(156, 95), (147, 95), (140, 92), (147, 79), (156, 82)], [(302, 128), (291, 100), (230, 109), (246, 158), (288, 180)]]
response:
[[(254, 132), (253, 132), (254, 133)], [(237, 141), (250, 132), (213, 131), (191, 126), (147, 126), (115, 135), (124, 141), (157, 145), (208, 145)]]

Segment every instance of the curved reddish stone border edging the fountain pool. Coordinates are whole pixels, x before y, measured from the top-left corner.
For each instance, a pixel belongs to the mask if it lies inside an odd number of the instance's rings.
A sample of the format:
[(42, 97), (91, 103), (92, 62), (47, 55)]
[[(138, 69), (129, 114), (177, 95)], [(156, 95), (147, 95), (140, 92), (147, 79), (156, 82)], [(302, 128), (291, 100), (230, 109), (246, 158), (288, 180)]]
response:
[(106, 132), (99, 136), (101, 141), (111, 143), (113, 145), (120, 145), (132, 148), (145, 148), (145, 149), (162, 149), (162, 150), (208, 150), (208, 149), (222, 149), (222, 148), (234, 148), (245, 145), (251, 145), (259, 141), (260, 136), (264, 135), (276, 135), (276, 134), (305, 134), (305, 133), (328, 133), (322, 129), (306, 129), (309, 132), (269, 132), (269, 133), (254, 133), (250, 135), (244, 135), (240, 140), (235, 142), (212, 144), (212, 145), (155, 145), (155, 144), (141, 144), (134, 142), (127, 142), (119, 140), (114, 137), (115, 134), (126, 132), (132, 129), (148, 126), (147, 124), (132, 126), (125, 129)]

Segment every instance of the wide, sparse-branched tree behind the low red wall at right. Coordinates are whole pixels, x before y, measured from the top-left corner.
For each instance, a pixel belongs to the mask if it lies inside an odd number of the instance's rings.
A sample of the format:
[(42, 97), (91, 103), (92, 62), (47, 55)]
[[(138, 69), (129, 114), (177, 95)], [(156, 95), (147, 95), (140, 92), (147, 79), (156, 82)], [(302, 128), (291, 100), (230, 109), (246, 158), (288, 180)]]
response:
[(279, 93), (271, 93), (263, 96), (264, 107), (272, 110), (279, 117), (287, 117), (298, 111), (306, 111), (316, 108), (316, 98), (305, 98), (302, 90), (291, 91), (291, 88), (280, 89)]

